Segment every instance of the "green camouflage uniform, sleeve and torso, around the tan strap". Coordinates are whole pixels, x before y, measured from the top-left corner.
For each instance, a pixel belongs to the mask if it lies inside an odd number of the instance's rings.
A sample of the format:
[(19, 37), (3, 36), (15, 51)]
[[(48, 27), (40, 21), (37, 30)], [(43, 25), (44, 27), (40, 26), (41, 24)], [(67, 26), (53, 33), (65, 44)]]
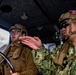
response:
[[(36, 66), (42, 75), (76, 75), (76, 58), (68, 60), (64, 67), (54, 64), (55, 57), (59, 53), (62, 45), (57, 46), (51, 53), (44, 47), (40, 50), (33, 50), (33, 57)], [(74, 45), (69, 42), (69, 49), (66, 57), (76, 56)]]

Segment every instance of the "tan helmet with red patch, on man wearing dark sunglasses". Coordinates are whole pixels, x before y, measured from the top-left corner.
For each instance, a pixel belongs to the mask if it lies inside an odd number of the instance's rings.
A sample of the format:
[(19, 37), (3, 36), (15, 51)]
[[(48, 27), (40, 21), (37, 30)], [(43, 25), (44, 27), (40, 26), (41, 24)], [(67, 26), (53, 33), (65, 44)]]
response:
[(59, 22), (72, 19), (74, 22), (76, 22), (76, 10), (69, 10), (68, 12), (62, 14), (59, 18)]

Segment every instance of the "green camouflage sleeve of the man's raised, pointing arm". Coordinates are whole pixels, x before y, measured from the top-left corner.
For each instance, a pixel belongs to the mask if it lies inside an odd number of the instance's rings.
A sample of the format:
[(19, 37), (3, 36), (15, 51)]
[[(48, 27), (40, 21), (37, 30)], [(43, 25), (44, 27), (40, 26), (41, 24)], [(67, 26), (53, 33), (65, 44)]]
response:
[(50, 75), (50, 52), (43, 46), (39, 50), (33, 50), (34, 62), (43, 75)]

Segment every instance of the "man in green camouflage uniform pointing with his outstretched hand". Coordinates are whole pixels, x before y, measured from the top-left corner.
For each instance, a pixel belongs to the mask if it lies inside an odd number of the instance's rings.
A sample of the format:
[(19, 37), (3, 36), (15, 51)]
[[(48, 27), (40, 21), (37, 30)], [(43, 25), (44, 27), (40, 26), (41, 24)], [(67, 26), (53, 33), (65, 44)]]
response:
[[(70, 10), (62, 14), (59, 23), (66, 42), (51, 53), (42, 47), (38, 37), (27, 36), (20, 39), (37, 50), (34, 51), (35, 62), (39, 70), (44, 72), (43, 75), (76, 75), (76, 11)], [(42, 59), (44, 57), (46, 60)]]

